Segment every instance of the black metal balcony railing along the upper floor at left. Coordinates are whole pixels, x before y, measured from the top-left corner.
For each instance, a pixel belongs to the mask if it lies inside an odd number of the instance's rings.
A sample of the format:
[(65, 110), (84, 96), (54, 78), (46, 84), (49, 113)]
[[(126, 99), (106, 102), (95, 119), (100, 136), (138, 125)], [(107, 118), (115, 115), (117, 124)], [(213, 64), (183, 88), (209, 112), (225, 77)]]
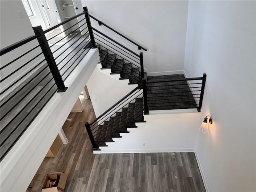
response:
[(90, 48), (96, 48), (90, 39), (88, 18), (87, 12), (82, 12), (46, 30), (33, 27), (35, 35), (0, 50), (4, 74), (0, 80), (0, 160), (56, 91), (66, 91), (66, 78)]

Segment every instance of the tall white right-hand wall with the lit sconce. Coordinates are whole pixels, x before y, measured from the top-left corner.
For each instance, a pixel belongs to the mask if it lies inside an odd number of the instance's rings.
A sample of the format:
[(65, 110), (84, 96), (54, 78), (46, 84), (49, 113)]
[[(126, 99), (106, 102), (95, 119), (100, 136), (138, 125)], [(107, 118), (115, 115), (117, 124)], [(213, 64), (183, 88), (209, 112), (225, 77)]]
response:
[(207, 74), (196, 155), (209, 191), (256, 191), (255, 1), (190, 1), (184, 71)]

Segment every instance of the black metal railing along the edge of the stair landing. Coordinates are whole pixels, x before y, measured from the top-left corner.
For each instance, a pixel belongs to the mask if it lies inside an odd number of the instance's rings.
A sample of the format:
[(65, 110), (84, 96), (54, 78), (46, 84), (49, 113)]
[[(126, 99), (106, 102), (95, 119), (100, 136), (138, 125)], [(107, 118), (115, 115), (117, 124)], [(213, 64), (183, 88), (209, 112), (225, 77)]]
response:
[(206, 74), (198, 78), (142, 80), (144, 114), (149, 110), (196, 108), (201, 111)]

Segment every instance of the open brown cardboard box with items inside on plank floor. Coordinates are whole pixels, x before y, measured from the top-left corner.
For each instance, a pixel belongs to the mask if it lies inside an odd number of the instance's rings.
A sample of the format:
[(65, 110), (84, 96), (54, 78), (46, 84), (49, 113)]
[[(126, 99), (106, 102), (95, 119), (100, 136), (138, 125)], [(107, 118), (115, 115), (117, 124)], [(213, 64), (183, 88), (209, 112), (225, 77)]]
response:
[[(49, 173), (46, 175), (42, 192), (64, 192), (68, 175), (63, 172)], [(56, 187), (46, 188), (48, 180), (51, 180), (58, 184)], [(56, 179), (56, 180), (54, 180)]]

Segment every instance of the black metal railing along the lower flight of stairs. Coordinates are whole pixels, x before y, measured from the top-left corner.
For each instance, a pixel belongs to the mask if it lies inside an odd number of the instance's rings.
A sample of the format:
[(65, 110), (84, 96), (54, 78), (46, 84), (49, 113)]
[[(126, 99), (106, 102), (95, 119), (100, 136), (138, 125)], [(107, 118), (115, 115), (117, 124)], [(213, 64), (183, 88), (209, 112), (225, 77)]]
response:
[[(129, 124), (132, 124), (130, 125), (131, 127), (135, 126), (135, 124), (133, 125), (134, 119), (140, 119), (140, 115), (142, 115), (143, 113), (142, 94), (142, 84), (140, 84), (138, 87), (136, 87), (126, 96), (124, 96), (121, 100), (119, 100), (116, 104), (110, 107), (106, 112), (104, 112), (102, 115), (96, 118), (93, 122), (91, 122), (90, 124), (88, 122), (85, 123), (85, 127), (90, 138), (90, 141), (92, 143), (93, 150), (99, 150), (99, 146), (106, 146), (104, 144), (102, 145), (101, 142), (113, 142), (112, 138), (120, 137), (115, 136), (113, 134), (118, 133), (118, 131), (120, 132), (121, 128), (126, 129), (127, 127), (129, 127)], [(134, 111), (134, 113), (132, 113), (132, 116), (128, 116), (124, 123), (119, 124), (118, 122), (119, 126), (117, 129), (109, 131), (108, 128), (114, 126), (115, 123), (113, 115), (118, 114), (118, 111), (120, 111), (125, 105), (127, 105), (130, 102), (130, 100), (134, 100), (136, 98), (142, 99), (137, 103), (137, 105), (140, 105), (142, 107), (141, 110)], [(104, 126), (104, 122), (108, 122), (108, 126)], [(127, 132), (127, 130), (122, 130), (122, 132)]]

